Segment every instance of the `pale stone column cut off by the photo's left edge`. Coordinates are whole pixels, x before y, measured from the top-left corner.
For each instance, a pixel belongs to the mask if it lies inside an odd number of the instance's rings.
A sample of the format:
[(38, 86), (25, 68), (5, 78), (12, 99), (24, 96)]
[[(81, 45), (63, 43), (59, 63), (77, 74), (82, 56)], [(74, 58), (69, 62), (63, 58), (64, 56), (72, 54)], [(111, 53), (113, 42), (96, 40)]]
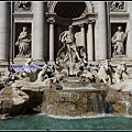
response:
[(0, 2), (0, 59), (8, 59), (8, 43), (9, 43), (9, 3)]

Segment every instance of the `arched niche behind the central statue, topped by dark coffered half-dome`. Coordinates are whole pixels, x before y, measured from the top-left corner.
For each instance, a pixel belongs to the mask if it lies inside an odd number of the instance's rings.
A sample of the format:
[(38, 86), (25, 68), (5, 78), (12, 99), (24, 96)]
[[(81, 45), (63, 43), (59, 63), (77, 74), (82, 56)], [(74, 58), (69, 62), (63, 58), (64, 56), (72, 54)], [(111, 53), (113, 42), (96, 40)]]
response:
[[(50, 33), (54, 36), (50, 36), (50, 40), (54, 37), (54, 41), (50, 41), (50, 61), (55, 58), (62, 44), (58, 40), (59, 34), (63, 31), (68, 30), (68, 25), (74, 25), (75, 35), (77, 35), (78, 46), (87, 48), (87, 31), (88, 23), (95, 22), (96, 13), (94, 11), (94, 3), (88, 1), (82, 2), (48, 2), (47, 22), (50, 23)], [(94, 25), (94, 24), (92, 24)], [(51, 28), (52, 26), (52, 28)], [(54, 26), (54, 31), (52, 30)], [(52, 51), (51, 50), (52, 46)], [(55, 47), (55, 48), (54, 48)], [(85, 50), (86, 52), (87, 50)], [(54, 57), (53, 57), (54, 54)], [(51, 57), (52, 56), (52, 57)]]

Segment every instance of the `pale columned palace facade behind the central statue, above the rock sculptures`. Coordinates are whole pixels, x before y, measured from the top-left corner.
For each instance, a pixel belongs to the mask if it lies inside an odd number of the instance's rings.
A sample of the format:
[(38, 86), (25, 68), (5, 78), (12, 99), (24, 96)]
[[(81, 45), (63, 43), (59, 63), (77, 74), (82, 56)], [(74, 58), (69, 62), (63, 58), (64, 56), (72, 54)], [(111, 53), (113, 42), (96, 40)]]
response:
[[(59, 35), (69, 25), (88, 62), (123, 61), (131, 66), (131, 1), (0, 2), (0, 67), (29, 57), (38, 64), (55, 62), (63, 46)], [(125, 37), (117, 43), (112, 36), (119, 26)]]

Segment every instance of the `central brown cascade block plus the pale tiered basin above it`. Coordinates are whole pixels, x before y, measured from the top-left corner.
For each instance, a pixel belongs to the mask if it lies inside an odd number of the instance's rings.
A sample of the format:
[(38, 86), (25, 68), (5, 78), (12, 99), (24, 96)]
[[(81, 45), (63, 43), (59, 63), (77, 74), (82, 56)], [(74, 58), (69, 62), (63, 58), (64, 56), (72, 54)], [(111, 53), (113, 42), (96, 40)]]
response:
[(43, 113), (62, 117), (82, 117), (105, 113), (106, 87), (95, 87), (88, 79), (66, 77), (61, 90), (46, 90)]

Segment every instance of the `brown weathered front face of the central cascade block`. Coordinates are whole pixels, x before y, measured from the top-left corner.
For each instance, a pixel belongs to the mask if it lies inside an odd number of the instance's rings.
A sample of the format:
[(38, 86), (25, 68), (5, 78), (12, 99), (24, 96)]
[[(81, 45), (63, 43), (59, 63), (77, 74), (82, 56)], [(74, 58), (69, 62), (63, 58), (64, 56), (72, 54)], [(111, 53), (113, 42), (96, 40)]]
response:
[(106, 92), (87, 90), (46, 90), (42, 112), (54, 116), (94, 116), (103, 112)]

